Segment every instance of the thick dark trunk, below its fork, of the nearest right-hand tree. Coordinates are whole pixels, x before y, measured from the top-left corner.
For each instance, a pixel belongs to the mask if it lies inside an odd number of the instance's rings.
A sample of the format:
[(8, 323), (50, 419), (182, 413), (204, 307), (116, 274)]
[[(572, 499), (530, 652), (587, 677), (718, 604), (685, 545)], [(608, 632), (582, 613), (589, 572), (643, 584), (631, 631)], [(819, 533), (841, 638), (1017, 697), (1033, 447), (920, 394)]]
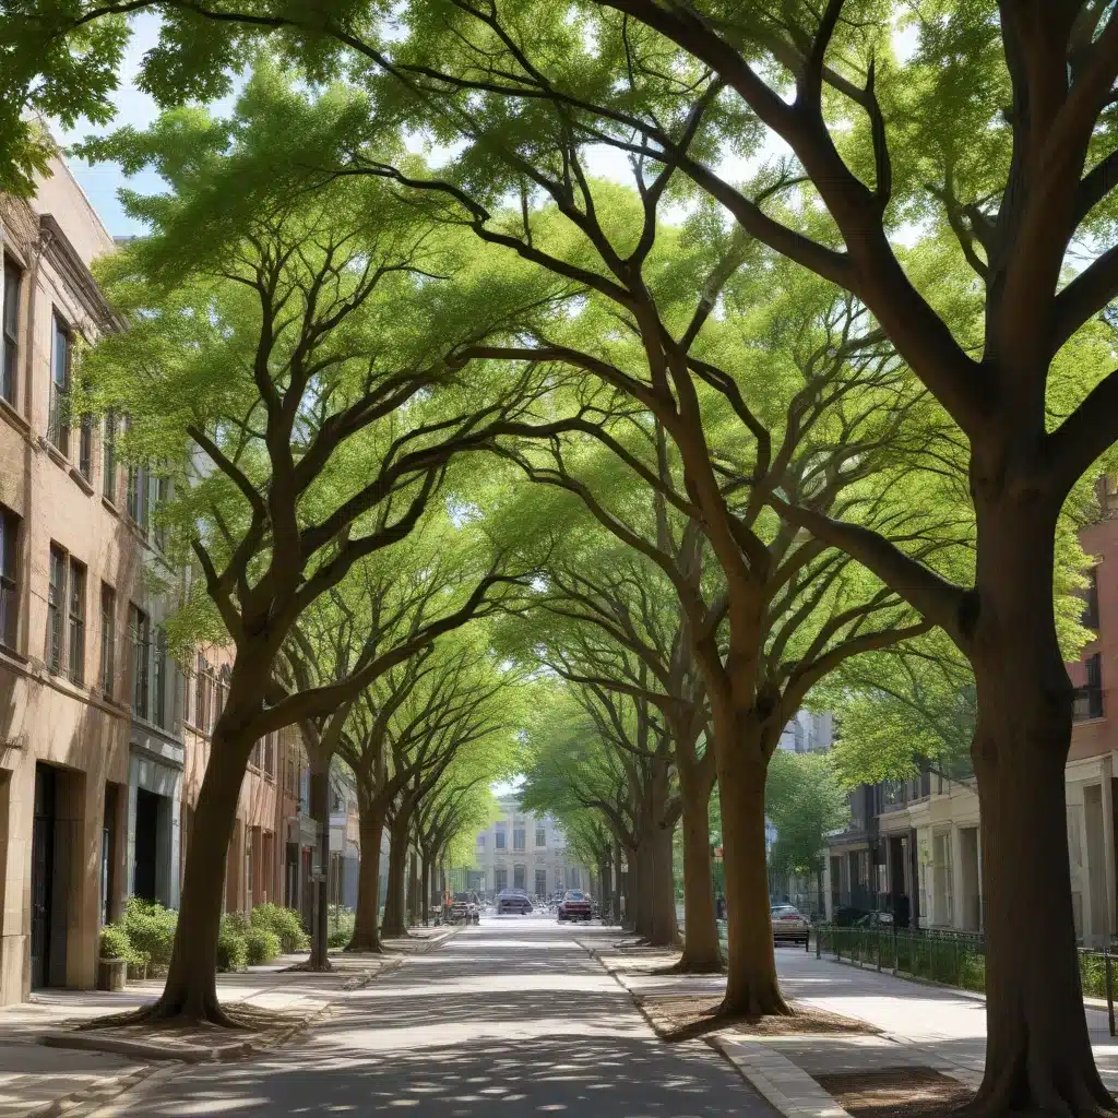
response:
[[(972, 748), (986, 907), (982, 1115), (1115, 1112), (1083, 1013), (1068, 856), (1071, 684), (1052, 612), (1055, 512), (978, 510)], [(1038, 903), (1038, 899), (1042, 903)]]

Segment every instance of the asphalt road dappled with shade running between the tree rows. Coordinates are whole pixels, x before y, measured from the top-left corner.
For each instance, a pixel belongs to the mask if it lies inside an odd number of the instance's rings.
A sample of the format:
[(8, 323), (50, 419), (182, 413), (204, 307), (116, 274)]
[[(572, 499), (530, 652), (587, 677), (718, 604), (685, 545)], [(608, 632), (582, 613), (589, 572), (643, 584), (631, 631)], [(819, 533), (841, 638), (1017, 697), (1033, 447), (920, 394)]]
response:
[(614, 938), (553, 918), (484, 920), (347, 995), (275, 1055), (184, 1068), (97, 1118), (774, 1118), (702, 1041), (659, 1040), (576, 941)]

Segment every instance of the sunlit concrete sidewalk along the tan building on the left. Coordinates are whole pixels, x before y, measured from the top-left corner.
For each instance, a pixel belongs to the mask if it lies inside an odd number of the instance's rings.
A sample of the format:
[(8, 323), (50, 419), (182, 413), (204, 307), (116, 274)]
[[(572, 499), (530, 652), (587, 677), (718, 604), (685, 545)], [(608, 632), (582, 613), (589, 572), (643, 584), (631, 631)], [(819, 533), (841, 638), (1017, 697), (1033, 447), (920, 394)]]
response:
[[(391, 940), (387, 956), (343, 955), (331, 951), (331, 974), (288, 969), (305, 955), (282, 956), (266, 966), (240, 974), (218, 975), (218, 998), (224, 1005), (252, 1005), (292, 1018), (292, 1029), (329, 1011), (356, 979), (375, 977), (386, 965), (399, 965), (409, 954), (440, 942), (446, 929), (415, 929), (409, 940)], [(161, 978), (129, 983), (124, 991), (46, 989), (32, 999), (0, 1007), (0, 1118), (60, 1115), (91, 1100), (104, 1101), (153, 1073), (168, 1073), (182, 1064), (152, 1059), (142, 1046), (133, 1053), (79, 1051), (44, 1046), (44, 1039), (95, 1017), (125, 1013), (154, 1002)], [(80, 1033), (96, 1038), (97, 1033)], [(64, 1040), (65, 1043), (65, 1040)], [(151, 1048), (151, 1046), (149, 1046)], [(161, 1053), (165, 1055), (167, 1053)], [(162, 1063), (162, 1067), (160, 1067)]]

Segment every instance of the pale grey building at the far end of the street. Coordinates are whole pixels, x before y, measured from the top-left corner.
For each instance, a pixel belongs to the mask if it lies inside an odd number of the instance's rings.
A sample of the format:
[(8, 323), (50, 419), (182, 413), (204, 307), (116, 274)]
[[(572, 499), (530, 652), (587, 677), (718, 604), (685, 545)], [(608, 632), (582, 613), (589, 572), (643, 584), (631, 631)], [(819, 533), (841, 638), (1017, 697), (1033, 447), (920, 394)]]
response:
[(567, 850), (562, 828), (550, 815), (524, 812), (515, 796), (499, 802), (500, 817), (479, 832), (466, 888), (480, 893), (523, 889), (550, 897), (563, 889), (590, 889), (587, 868)]

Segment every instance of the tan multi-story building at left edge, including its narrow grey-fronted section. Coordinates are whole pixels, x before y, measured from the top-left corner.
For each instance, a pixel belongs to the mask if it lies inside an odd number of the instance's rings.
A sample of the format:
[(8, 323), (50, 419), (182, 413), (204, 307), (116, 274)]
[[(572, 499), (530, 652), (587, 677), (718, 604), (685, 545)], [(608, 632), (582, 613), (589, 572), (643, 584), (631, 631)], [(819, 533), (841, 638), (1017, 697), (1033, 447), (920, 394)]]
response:
[(51, 172), (0, 199), (0, 1002), (93, 985), (124, 898), (178, 900), (165, 483), (82, 416), (79, 349), (121, 325), (89, 272), (113, 240)]

